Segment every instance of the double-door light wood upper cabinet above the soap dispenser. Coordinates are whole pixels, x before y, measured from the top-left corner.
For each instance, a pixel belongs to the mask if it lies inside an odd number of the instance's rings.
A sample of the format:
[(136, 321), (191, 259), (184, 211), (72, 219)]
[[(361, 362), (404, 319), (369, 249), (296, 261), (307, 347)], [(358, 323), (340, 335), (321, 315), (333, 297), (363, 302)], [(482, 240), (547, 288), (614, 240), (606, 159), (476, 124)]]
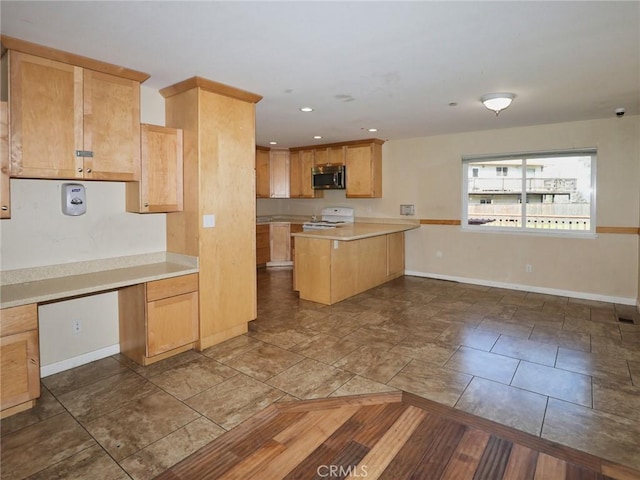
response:
[(138, 81), (8, 54), (11, 176), (140, 178)]

